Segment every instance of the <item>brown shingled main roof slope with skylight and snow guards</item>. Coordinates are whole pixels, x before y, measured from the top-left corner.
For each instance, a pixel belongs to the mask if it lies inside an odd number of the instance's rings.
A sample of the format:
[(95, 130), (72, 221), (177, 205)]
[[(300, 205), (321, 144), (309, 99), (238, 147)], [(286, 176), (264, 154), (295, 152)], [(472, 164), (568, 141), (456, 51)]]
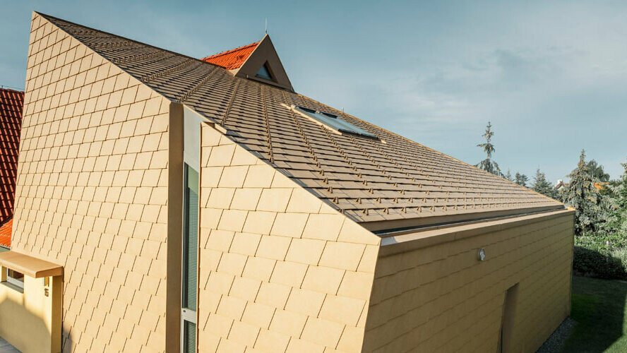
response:
[[(377, 222), (376, 229), (389, 229), (563, 208), (551, 198), (304, 95), (42, 16), (169, 100), (219, 124), (229, 138), (356, 222)], [(335, 114), (379, 139), (333, 133), (295, 113), (292, 104)], [(379, 223), (388, 220), (400, 222)]]

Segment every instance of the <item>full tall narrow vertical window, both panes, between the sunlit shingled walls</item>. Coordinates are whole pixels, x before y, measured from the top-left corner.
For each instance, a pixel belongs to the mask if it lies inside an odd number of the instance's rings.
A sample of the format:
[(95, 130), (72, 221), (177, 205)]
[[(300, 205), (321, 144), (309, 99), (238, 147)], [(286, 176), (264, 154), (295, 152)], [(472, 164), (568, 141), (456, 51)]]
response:
[(183, 208), (183, 286), (181, 330), (183, 352), (196, 352), (198, 269), (198, 172), (185, 164)]

